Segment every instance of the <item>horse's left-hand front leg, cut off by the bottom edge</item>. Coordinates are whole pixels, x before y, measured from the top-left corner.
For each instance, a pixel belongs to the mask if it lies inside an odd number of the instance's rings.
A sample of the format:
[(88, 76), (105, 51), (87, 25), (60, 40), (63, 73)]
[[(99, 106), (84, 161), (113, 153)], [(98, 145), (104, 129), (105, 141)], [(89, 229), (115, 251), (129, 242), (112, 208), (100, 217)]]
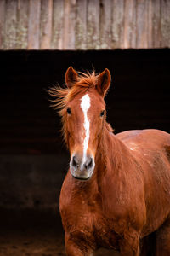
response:
[(65, 252), (67, 256), (93, 256), (94, 251), (81, 240), (73, 241), (69, 235), (65, 234)]

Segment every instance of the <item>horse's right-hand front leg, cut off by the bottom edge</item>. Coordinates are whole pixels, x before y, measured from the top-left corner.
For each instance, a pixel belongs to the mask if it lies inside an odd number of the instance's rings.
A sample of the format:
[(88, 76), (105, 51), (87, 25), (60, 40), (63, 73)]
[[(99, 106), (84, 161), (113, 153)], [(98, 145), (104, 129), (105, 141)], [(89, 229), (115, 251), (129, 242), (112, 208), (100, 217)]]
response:
[(126, 234), (120, 241), (121, 256), (139, 256), (139, 234)]

